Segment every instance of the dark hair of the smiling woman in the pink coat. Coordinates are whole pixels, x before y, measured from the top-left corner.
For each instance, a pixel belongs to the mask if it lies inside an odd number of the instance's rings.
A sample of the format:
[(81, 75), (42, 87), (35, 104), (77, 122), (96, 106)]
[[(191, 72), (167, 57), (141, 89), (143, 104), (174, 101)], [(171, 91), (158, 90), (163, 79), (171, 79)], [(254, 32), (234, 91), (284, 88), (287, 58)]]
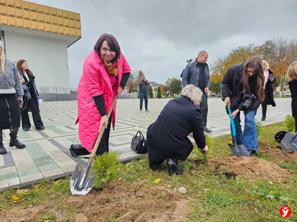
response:
[(116, 52), (116, 56), (111, 61), (111, 62), (115, 62), (117, 59), (120, 58), (121, 48), (120, 48), (118, 41), (116, 40), (116, 38), (113, 35), (108, 34), (108, 33), (103, 33), (97, 40), (97, 42), (94, 46), (94, 50), (100, 56), (100, 48), (102, 46), (103, 41), (105, 41), (105, 40), (107, 41), (107, 44), (110, 47), (110, 49)]

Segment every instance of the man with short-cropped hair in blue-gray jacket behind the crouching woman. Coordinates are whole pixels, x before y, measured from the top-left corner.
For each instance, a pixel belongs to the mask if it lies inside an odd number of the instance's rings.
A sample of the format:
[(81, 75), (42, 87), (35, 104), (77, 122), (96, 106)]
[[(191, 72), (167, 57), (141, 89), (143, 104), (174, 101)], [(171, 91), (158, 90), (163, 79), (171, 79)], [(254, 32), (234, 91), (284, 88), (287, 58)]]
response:
[(208, 112), (207, 93), (210, 89), (209, 69), (206, 64), (207, 58), (208, 53), (206, 51), (202, 50), (198, 53), (197, 58), (193, 62), (190, 62), (184, 69), (182, 84), (183, 87), (193, 84), (202, 90), (203, 96), (200, 102), (200, 109), (203, 120), (203, 131), (209, 133), (212, 130), (206, 127)]

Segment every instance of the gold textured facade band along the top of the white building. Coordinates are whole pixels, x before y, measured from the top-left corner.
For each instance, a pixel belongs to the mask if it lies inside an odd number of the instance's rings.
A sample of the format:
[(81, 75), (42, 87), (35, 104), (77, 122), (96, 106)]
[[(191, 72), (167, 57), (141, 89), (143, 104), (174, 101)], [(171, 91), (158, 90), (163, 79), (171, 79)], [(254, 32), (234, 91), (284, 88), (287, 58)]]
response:
[(81, 37), (79, 13), (22, 0), (0, 0), (0, 25)]

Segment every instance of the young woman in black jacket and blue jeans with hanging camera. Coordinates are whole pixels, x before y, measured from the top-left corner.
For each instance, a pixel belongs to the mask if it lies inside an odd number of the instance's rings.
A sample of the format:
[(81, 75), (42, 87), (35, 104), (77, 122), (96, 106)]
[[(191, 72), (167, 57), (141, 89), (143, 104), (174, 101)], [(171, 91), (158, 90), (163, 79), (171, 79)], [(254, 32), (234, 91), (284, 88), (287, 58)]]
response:
[[(237, 144), (244, 144), (250, 155), (255, 155), (257, 128), (255, 110), (264, 101), (262, 59), (249, 57), (243, 64), (231, 66), (222, 80), (222, 100), (231, 106)], [(244, 133), (240, 125), (240, 111), (244, 111)], [(231, 128), (232, 132), (232, 128)]]

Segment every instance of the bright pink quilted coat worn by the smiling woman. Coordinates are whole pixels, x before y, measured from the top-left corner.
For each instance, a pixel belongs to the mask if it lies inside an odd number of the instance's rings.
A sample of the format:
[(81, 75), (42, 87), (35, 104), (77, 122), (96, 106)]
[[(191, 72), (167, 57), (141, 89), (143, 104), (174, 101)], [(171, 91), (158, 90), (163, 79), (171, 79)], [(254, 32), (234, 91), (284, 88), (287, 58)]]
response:
[[(116, 92), (119, 89), (122, 74), (130, 73), (131, 69), (123, 54), (120, 56), (120, 69), (118, 71), (118, 82)], [(83, 75), (80, 78), (77, 92), (78, 118), (75, 124), (79, 123), (78, 136), (83, 146), (91, 152), (99, 134), (101, 115), (99, 114), (94, 96), (103, 94), (105, 109), (108, 113), (114, 97), (108, 73), (93, 51), (83, 63)], [(113, 107), (111, 123), (114, 129), (116, 121), (116, 104)]]

